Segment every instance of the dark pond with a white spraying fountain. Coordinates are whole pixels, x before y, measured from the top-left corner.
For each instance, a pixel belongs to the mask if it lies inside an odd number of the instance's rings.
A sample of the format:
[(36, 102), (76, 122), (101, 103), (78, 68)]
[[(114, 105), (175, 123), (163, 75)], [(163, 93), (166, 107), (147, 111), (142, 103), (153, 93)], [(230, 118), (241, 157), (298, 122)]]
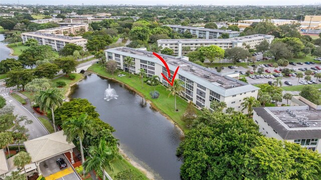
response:
[[(117, 99), (103, 99), (108, 84)], [(156, 179), (180, 179), (182, 161), (175, 153), (182, 134), (165, 116), (149, 104), (141, 107), (142, 98), (136, 93), (96, 74), (87, 75), (73, 86), (72, 92), (72, 98), (86, 98), (96, 106), (100, 119), (115, 128), (113, 134), (129, 158), (156, 174)]]

